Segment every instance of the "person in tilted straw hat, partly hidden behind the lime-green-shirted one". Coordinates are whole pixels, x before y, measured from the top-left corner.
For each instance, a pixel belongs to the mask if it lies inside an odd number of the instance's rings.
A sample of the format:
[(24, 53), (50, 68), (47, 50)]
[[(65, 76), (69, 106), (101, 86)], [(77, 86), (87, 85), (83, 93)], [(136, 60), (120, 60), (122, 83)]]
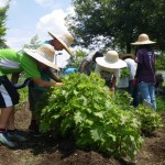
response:
[[(65, 50), (70, 56), (73, 55), (69, 47), (74, 42), (74, 37), (68, 31), (63, 31), (61, 34), (54, 34), (52, 32), (48, 32), (48, 35), (51, 35), (52, 40), (44, 41), (41, 44), (50, 44), (54, 47), (55, 51)], [(42, 75), (42, 78), (47, 81), (51, 78), (57, 82), (62, 81), (58, 78), (58, 76), (56, 74), (54, 74), (53, 70), (51, 70), (51, 69), (46, 69), (46, 74), (45, 74), (45, 70), (41, 70), (41, 75)], [(48, 75), (48, 77), (47, 77), (47, 75)], [(47, 90), (46, 88), (41, 88), (37, 86), (32, 86), (32, 87), (29, 86), (29, 102), (30, 102), (30, 111), (32, 113), (31, 122), (29, 125), (29, 131), (31, 133), (33, 133), (33, 135), (35, 135), (35, 136), (36, 135), (38, 136), (41, 134), (38, 131), (40, 121), (35, 117), (35, 111), (38, 111), (36, 105), (40, 101), (40, 99), (45, 95), (46, 90)]]

